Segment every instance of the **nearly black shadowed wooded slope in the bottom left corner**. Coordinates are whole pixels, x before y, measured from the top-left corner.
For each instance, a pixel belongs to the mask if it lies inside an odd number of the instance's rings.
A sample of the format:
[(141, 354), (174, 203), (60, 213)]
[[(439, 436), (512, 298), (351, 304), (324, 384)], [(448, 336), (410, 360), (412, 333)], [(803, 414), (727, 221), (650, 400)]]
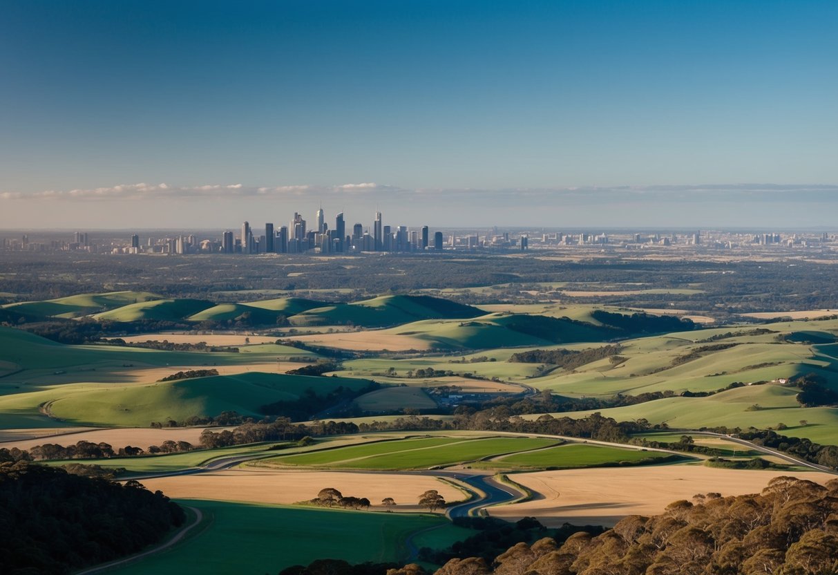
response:
[(0, 463), (0, 571), (63, 574), (139, 552), (183, 525), (184, 510), (160, 491)]

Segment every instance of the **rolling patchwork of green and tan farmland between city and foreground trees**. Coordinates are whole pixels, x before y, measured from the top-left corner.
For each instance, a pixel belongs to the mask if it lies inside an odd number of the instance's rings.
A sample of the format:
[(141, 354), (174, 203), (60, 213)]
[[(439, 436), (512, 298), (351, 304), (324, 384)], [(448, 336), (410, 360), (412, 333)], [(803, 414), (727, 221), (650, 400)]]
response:
[[(123, 479), (139, 476), (148, 489), (162, 490), (209, 518), (172, 552), (114, 570), (163, 575), (277, 572), (322, 558), (324, 549), (329, 557), (350, 562), (403, 561), (411, 556), (408, 538), (412, 546), (422, 547), (424, 537), (438, 547), (473, 535), (444, 519), (442, 510), (423, 514), (422, 493), (437, 490), (449, 504), (468, 500), (477, 512), (487, 497), (479, 482), (496, 473), (508, 473), (530, 493), (515, 495), (517, 488), (510, 487), (506, 495), (524, 500), (504, 500), (505, 505), (488, 507), (489, 514), (509, 520), (535, 516), (548, 526), (566, 521), (612, 525), (624, 515), (658, 513), (670, 501), (698, 493), (756, 492), (782, 474), (820, 484), (833, 478), (776, 466), (711, 468), (684, 453), (597, 443), (592, 433), (567, 439), (505, 432), (520, 431), (525, 427), (515, 424), (546, 412), (575, 420), (598, 413), (616, 422), (664, 426), (641, 437), (670, 443), (691, 429), (725, 426), (770, 427), (791, 438), (838, 444), (838, 407), (802, 406), (794, 383), (815, 374), (823, 393), (838, 391), (838, 319), (807, 320), (819, 313), (800, 312), (768, 324), (708, 329), (680, 319), (700, 315), (687, 307), (638, 313), (638, 308), (573, 303), (628, 295), (689, 298), (705, 293), (698, 284), (657, 289), (603, 282), (598, 289), (593, 283), (585, 288), (535, 282), (530, 287), (525, 291), (532, 298), (552, 293), (568, 299), (478, 307), (428, 295), (338, 303), (113, 292), (8, 304), (3, 310), (24, 319), (178, 322), (195, 329), (121, 336), (127, 344), (166, 340), (170, 346), (153, 350), (59, 344), (0, 327), (0, 449), (77, 441), (147, 448), (167, 440), (199, 447), (206, 422), (222, 414), (235, 413), (236, 421), (247, 425), (286, 413), (302, 413), (295, 422), (310, 420), (305, 433), (314, 438), (300, 443), (304, 433), (293, 441), (262, 438), (261, 443), (215, 443), (229, 447), (184, 453), (81, 461), (127, 469)], [(459, 293), (486, 296), (492, 289)], [(241, 327), (245, 324), (250, 327)], [(227, 326), (230, 333), (200, 333), (199, 325)], [(309, 328), (320, 333), (296, 332)], [(282, 337), (275, 335), (280, 329)], [(181, 347), (173, 349), (174, 344)], [(201, 344), (215, 350), (196, 349)], [(590, 360), (574, 360), (580, 357)], [(285, 373), (301, 367), (313, 375)], [(161, 381), (178, 371), (210, 369), (218, 375)], [(561, 411), (539, 411), (546, 405)], [(565, 411), (568, 405), (586, 408)], [(419, 413), (438, 420), (437, 427), (420, 427)], [(313, 431), (323, 428), (321, 420), (354, 423), (360, 433), (324, 438), (322, 431)], [(171, 427), (152, 429), (152, 422)], [(203, 423), (177, 427), (182, 422)], [(403, 427), (387, 427), (394, 422)], [(459, 427), (463, 422), (473, 427)], [(380, 429), (388, 431), (375, 432)], [(484, 431), (490, 429), (498, 431)], [(789, 463), (725, 438), (695, 440), (726, 458)], [(80, 460), (49, 462), (72, 463)], [(328, 487), (368, 498), (370, 510), (293, 505)], [(382, 505), (386, 497), (395, 500), (394, 508)], [(235, 554), (216, 552), (222, 547)]]

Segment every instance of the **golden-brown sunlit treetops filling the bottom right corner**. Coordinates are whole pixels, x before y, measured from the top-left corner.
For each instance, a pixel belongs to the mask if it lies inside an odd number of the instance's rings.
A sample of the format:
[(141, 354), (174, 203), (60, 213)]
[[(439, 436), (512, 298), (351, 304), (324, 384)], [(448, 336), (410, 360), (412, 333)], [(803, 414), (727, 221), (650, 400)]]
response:
[(838, 479), (772, 479), (760, 495), (696, 495), (630, 515), (601, 535), (520, 542), (487, 561), (455, 558), (437, 575), (825, 575), (838, 572)]

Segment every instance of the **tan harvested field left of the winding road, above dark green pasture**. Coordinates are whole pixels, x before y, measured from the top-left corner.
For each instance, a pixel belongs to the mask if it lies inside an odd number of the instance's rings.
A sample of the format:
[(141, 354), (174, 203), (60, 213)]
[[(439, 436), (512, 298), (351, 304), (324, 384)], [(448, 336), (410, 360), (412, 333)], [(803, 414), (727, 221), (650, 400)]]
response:
[(463, 500), (463, 492), (429, 475), (360, 474), (339, 471), (294, 471), (244, 468), (214, 473), (143, 479), (149, 490), (162, 490), (175, 499), (235, 500), (292, 504), (310, 500), (334, 487), (344, 495), (366, 497), (373, 506), (385, 497), (401, 506), (416, 505), (419, 495), (437, 490), (446, 501)]

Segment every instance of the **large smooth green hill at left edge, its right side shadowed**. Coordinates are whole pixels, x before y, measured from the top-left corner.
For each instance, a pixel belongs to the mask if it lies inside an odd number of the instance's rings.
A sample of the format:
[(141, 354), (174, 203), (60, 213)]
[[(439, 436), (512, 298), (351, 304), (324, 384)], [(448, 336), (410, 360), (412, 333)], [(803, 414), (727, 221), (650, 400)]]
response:
[(62, 422), (116, 427), (145, 427), (168, 419), (182, 422), (192, 416), (214, 417), (226, 411), (261, 417), (262, 405), (294, 401), (308, 389), (321, 395), (339, 386), (358, 389), (368, 384), (342, 377), (258, 372), (150, 385), (67, 384), (0, 396), (0, 421), (3, 414), (37, 416), (39, 412)]

